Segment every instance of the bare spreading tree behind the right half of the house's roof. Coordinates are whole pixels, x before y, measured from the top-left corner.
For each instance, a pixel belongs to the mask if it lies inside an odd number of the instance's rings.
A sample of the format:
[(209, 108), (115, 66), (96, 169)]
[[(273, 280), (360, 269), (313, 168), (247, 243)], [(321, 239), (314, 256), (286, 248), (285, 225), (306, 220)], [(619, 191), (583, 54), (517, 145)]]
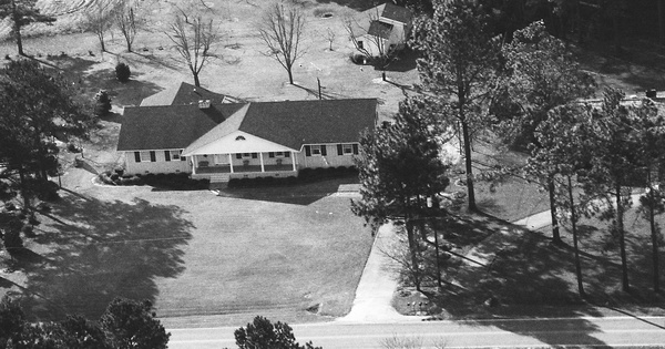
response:
[(278, 2), (265, 12), (257, 25), (260, 38), (268, 47), (265, 54), (284, 66), (290, 84), (294, 83), (291, 68), (305, 54), (300, 48), (305, 22), (301, 9)]

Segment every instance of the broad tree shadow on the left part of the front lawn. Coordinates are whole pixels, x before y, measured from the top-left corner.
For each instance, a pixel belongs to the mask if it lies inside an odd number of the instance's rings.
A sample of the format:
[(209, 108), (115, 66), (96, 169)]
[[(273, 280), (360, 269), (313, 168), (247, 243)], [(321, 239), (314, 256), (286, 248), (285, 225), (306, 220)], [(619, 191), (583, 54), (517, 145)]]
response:
[(19, 259), (28, 277), (24, 309), (41, 320), (66, 314), (98, 318), (115, 297), (154, 302), (155, 279), (185, 269), (182, 247), (194, 226), (183, 214), (143, 199), (127, 204), (65, 195), (49, 215), (55, 219), (43, 216), (35, 232), (34, 243), (48, 252)]

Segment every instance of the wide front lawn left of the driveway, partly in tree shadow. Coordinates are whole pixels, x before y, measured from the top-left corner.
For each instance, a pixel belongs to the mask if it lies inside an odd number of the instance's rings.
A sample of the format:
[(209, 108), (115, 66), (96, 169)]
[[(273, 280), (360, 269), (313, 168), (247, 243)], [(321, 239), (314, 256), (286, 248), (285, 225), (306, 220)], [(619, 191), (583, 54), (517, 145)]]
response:
[(318, 305), (319, 315), (341, 316), (371, 235), (348, 197), (314, 192), (293, 204), (290, 192), (297, 187), (253, 198), (149, 187), (68, 194), (40, 215), (21, 257), (23, 305), (40, 319), (95, 318), (113, 297), (151, 299), (162, 317), (218, 315), (219, 324), (259, 314), (321, 320), (306, 311)]

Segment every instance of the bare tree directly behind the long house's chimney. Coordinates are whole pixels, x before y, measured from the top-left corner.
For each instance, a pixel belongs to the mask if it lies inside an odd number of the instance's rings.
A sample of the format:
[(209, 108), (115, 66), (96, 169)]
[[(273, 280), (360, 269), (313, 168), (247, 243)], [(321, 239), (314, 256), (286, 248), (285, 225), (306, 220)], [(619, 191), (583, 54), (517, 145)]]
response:
[(181, 61), (192, 71), (194, 84), (201, 86), (198, 73), (211, 60), (211, 45), (219, 40), (213, 20), (205, 20), (201, 16), (190, 19), (183, 12), (168, 25), (166, 35), (180, 53)]

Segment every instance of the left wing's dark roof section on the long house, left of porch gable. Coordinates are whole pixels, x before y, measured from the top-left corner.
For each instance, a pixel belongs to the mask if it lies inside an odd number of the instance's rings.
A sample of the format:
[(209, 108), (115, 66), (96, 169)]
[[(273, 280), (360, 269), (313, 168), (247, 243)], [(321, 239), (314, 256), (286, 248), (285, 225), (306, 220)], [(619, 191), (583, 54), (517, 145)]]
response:
[(244, 104), (127, 106), (119, 151), (180, 150), (228, 119)]

